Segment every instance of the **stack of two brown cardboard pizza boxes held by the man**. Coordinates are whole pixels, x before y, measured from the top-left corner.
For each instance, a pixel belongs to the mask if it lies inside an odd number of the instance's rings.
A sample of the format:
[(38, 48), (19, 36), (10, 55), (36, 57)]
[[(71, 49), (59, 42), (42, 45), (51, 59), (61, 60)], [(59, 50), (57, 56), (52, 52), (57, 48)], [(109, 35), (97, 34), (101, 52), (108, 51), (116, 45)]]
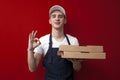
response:
[(106, 53), (103, 52), (103, 46), (77, 46), (61, 45), (57, 53), (62, 58), (74, 59), (105, 59)]

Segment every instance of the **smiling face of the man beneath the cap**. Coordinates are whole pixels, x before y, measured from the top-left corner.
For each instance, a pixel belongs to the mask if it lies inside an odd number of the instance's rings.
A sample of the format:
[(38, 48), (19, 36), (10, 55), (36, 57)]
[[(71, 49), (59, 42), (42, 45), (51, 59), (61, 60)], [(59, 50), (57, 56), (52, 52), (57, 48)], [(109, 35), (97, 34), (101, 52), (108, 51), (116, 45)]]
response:
[(59, 29), (64, 26), (66, 23), (66, 19), (63, 13), (60, 11), (54, 11), (50, 15), (49, 23), (53, 28)]

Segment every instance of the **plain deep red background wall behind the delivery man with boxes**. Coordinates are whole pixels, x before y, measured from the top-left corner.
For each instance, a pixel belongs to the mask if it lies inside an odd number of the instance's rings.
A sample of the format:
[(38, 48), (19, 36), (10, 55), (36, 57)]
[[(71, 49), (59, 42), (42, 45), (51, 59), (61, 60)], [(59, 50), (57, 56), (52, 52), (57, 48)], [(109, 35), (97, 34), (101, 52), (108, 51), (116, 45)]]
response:
[(49, 8), (66, 9), (65, 32), (81, 45), (103, 45), (106, 60), (87, 60), (75, 80), (120, 80), (120, 2), (116, 0), (0, 0), (0, 80), (44, 80), (40, 63), (36, 72), (27, 65), (28, 34), (51, 32)]

